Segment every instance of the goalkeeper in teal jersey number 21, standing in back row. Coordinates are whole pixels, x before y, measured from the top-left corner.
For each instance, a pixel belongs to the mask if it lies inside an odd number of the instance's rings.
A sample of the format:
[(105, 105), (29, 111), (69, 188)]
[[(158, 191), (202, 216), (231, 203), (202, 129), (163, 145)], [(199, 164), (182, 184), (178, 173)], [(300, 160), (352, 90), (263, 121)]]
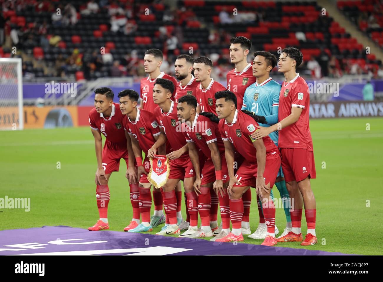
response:
[[(281, 85), (270, 77), (270, 71), (272, 71), (275, 65), (277, 65), (277, 57), (270, 52), (256, 51), (254, 53), (253, 76), (257, 77), (257, 81), (247, 87), (243, 98), (242, 110), (252, 111), (260, 126), (268, 127), (278, 122), (278, 103)], [(278, 131), (270, 133), (269, 136), (275, 145), (278, 146)], [(280, 236), (282, 237), (290, 232), (292, 227), (288, 207), (290, 197), (286, 189), (282, 167), (275, 180), (275, 185), (280, 193), (286, 215), (286, 228)], [(258, 196), (257, 200), (260, 213), (259, 226), (253, 234), (249, 235), (249, 238), (263, 239), (266, 236), (267, 228), (265, 228), (265, 221), (261, 210), (262, 203), (260, 203)]]

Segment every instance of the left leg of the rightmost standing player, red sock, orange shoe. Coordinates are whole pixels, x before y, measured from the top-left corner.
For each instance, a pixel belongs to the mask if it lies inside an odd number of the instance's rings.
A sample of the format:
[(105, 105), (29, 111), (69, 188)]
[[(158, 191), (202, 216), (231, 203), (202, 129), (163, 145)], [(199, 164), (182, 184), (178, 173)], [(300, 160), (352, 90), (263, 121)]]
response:
[(291, 207), (293, 210), (290, 211), (292, 227), (285, 236), (278, 237), (277, 242), (300, 242), (303, 240), (301, 231), (303, 198), (295, 180), (286, 181), (286, 188), (294, 205)]

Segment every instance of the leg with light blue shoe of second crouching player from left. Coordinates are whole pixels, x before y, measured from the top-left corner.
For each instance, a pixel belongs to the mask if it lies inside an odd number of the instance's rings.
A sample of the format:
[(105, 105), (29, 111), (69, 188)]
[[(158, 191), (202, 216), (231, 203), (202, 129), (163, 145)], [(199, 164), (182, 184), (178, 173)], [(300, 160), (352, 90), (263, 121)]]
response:
[(150, 209), (152, 207), (152, 195), (150, 192), (150, 183), (139, 183), (139, 198), (138, 205), (141, 211), (142, 222), (136, 228), (128, 230), (128, 232), (149, 232), (152, 231), (153, 228), (150, 225)]

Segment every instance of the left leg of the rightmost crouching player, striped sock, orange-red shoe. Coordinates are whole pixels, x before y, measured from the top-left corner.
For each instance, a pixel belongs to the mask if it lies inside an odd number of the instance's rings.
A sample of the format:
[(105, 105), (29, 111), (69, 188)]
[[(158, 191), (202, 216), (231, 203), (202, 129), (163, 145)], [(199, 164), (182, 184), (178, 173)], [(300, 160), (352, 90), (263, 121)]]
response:
[(232, 188), (232, 193), (229, 194), (232, 231), (227, 236), (224, 236), (221, 239), (216, 239), (216, 242), (244, 241), (241, 230), (241, 222), (243, 216), (242, 195), (243, 192), (248, 188), (249, 186)]

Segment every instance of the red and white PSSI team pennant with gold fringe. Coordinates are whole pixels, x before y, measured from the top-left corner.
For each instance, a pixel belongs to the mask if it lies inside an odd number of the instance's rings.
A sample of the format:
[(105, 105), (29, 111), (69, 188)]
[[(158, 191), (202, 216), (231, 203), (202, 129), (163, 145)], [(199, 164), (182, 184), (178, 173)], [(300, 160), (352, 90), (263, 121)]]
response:
[(150, 159), (150, 170), (147, 174), (147, 180), (154, 185), (155, 188), (164, 186), (169, 179), (170, 166), (169, 159), (166, 156), (154, 155)]

